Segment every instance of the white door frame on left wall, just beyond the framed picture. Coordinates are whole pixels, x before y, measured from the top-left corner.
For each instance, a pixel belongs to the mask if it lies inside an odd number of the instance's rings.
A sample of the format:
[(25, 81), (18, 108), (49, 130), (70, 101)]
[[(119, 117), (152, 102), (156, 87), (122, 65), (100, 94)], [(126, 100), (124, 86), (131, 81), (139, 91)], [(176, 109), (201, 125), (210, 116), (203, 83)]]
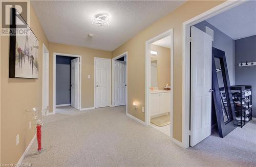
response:
[[(46, 47), (46, 45), (43, 43), (42, 44), (42, 106), (45, 106), (45, 72), (46, 72), (46, 67), (45, 67), (45, 53), (48, 53), (48, 66), (50, 63), (50, 52), (48, 50), (48, 48)], [(50, 67), (50, 66), (49, 66)], [(48, 67), (48, 68), (49, 68)], [(50, 74), (50, 70), (48, 69), (48, 105), (49, 105), (49, 74)], [(47, 112), (48, 115), (49, 111)]]

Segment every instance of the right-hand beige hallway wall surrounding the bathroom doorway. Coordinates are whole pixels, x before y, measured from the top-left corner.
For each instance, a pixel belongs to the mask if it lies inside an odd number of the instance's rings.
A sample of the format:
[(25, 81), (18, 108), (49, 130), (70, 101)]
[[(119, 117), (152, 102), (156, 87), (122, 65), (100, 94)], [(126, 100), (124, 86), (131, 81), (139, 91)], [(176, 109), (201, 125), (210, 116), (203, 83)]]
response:
[[(113, 51), (113, 57), (128, 52), (128, 113), (145, 120), (145, 42), (169, 29), (174, 30), (174, 120), (173, 137), (182, 141), (182, 23), (224, 1), (188, 1), (174, 12), (148, 26)], [(133, 101), (138, 101), (136, 110)]]

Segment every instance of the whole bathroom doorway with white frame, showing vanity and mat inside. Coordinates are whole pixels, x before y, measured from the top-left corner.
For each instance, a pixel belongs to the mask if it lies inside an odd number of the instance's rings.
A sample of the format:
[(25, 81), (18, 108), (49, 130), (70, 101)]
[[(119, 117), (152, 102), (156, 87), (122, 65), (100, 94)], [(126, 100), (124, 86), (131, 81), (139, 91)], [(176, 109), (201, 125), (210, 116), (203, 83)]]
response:
[(145, 52), (145, 122), (173, 140), (173, 29), (146, 41)]

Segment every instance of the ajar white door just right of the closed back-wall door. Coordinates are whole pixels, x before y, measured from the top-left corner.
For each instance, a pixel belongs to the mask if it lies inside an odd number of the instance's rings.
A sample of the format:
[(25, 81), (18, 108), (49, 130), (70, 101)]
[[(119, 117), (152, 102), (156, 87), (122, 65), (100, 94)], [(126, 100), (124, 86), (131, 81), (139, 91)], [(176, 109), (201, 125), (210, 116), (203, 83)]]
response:
[(126, 62), (115, 61), (115, 106), (126, 105)]

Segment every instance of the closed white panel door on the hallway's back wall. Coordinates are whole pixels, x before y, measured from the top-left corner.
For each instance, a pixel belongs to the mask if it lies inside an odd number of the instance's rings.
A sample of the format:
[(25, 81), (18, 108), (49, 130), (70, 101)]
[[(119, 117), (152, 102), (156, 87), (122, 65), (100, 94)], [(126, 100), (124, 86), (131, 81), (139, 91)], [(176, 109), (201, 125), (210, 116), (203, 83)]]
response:
[(94, 59), (95, 107), (110, 106), (111, 59)]

